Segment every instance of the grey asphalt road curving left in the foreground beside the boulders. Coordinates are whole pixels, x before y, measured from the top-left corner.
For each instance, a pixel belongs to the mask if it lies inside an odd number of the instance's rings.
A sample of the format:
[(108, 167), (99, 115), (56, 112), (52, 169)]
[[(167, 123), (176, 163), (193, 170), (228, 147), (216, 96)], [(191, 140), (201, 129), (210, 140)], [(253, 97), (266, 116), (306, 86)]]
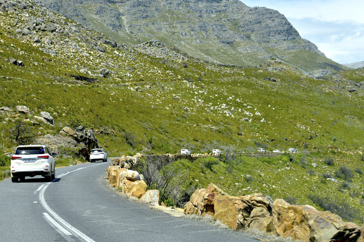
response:
[(0, 182), (0, 241), (257, 241), (124, 199), (107, 186), (109, 164), (57, 168), (50, 183)]

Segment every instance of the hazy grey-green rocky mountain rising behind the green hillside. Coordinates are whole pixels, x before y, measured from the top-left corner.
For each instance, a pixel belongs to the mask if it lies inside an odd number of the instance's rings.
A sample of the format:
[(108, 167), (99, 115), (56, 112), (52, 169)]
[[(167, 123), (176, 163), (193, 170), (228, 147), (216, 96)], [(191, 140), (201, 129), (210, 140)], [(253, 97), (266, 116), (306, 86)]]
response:
[(276, 58), (314, 76), (345, 69), (279, 12), (238, 0), (40, 2), (128, 45), (158, 39), (195, 58), (245, 67)]

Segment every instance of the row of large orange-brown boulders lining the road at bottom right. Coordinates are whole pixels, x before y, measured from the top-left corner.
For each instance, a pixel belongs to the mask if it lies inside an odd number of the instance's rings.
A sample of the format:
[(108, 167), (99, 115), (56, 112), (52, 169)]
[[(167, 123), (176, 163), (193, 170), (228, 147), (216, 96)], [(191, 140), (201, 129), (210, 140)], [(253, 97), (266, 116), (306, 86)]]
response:
[[(216, 186), (210, 184), (209, 187)], [(278, 199), (273, 204), (260, 193), (246, 196), (207, 195), (197, 189), (185, 206), (185, 214), (210, 214), (234, 230), (258, 229), (303, 242), (363, 241), (362, 229), (329, 211), (311, 206), (290, 205)], [(211, 193), (210, 193), (211, 194)], [(210, 197), (210, 199), (207, 199)], [(207, 212), (206, 204), (209, 204)]]

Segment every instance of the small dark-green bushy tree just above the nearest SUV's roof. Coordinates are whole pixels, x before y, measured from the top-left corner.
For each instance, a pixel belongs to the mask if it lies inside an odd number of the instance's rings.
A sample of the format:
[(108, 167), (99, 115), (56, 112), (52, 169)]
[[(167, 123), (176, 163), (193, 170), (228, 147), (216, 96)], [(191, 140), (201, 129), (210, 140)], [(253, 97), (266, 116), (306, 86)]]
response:
[(16, 145), (28, 145), (35, 141), (35, 132), (33, 126), (27, 121), (16, 119), (14, 127), (10, 129), (11, 138), (15, 140)]

